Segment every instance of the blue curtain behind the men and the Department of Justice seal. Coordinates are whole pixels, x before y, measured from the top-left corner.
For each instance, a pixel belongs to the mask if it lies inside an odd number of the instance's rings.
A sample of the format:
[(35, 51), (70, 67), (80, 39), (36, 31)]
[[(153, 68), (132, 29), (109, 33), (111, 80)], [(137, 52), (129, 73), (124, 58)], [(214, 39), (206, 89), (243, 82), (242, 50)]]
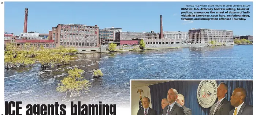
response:
[[(167, 92), (170, 88), (174, 88), (185, 97), (185, 106), (192, 110), (193, 115), (209, 115), (210, 108), (203, 108), (197, 101), (197, 88), (201, 81), (170, 81), (165, 83), (159, 83), (154, 85), (149, 85), (151, 104), (152, 108), (157, 111), (157, 114), (162, 112), (161, 101), (163, 98), (167, 98)], [(226, 99), (230, 101), (232, 92), (237, 87), (243, 87), (246, 89), (247, 96), (245, 103), (253, 106), (253, 92), (252, 92), (252, 81), (216, 81), (217, 85), (219, 83), (226, 83), (229, 87)], [(216, 99), (217, 102), (218, 99)], [(215, 102), (215, 103), (216, 103)]]

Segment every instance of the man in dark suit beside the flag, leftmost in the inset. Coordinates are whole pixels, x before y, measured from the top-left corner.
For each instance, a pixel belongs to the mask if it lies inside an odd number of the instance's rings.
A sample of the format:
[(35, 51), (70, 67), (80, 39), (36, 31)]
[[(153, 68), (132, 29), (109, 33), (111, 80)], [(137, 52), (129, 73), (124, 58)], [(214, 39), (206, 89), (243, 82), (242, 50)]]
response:
[(157, 115), (156, 110), (149, 107), (150, 99), (148, 97), (142, 98), (143, 110), (138, 110), (137, 115)]

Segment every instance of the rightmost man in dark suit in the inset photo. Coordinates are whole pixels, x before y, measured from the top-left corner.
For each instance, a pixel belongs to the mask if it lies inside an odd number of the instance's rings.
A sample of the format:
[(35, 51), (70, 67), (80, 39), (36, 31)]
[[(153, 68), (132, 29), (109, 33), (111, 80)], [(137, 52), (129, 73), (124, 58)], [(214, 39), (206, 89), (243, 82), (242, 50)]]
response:
[(252, 115), (252, 106), (245, 104), (246, 90), (235, 88), (230, 98), (231, 106), (234, 106), (229, 115)]

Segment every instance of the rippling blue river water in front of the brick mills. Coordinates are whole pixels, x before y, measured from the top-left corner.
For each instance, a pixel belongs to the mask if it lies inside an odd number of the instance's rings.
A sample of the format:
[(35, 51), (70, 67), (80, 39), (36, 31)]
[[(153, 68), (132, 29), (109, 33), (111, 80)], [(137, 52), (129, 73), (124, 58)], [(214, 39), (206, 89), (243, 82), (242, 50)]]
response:
[[(130, 79), (252, 79), (253, 45), (197, 47), (91, 53), (71, 56), (71, 65), (41, 70), (29, 68), (5, 70), (5, 101), (22, 103), (63, 102), (65, 94), (56, 92), (70, 69), (79, 68), (90, 80), (88, 95), (72, 101), (93, 104), (118, 104), (130, 107)], [(104, 76), (93, 78), (92, 70)]]

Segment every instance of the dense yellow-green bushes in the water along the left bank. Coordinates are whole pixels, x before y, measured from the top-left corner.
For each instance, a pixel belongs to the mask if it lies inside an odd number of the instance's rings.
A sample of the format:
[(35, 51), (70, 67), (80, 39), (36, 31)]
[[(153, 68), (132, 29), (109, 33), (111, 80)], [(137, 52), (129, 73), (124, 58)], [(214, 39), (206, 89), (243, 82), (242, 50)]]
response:
[(13, 43), (9, 43), (4, 49), (4, 66), (5, 69), (33, 66), (36, 61), (40, 62), (42, 69), (68, 65), (70, 55), (77, 54), (77, 52), (78, 50), (74, 47), (63, 46), (55, 49), (45, 49), (41, 46), (36, 49), (29, 43), (25, 43), (23, 49), (18, 50)]

